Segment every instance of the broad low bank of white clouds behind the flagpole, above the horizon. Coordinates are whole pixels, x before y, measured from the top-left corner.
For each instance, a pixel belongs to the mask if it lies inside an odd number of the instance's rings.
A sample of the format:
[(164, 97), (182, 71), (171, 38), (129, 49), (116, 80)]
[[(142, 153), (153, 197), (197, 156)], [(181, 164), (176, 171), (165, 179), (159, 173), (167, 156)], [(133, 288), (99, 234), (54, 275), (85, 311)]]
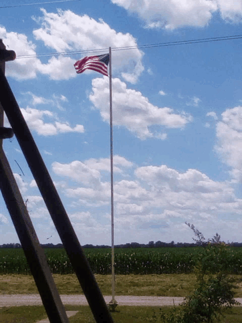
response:
[[(120, 168), (134, 167), (123, 156), (117, 156), (116, 163)], [(110, 183), (101, 175), (101, 171), (109, 171), (106, 158), (53, 163), (52, 168), (55, 174), (76, 182), (63, 187), (73, 207), (109, 207)], [(139, 234), (139, 230), (162, 228), (168, 239), (172, 232), (189, 231), (184, 226), (188, 221), (201, 230), (209, 225), (206, 232), (211, 236), (214, 227), (226, 227), (219, 219), (221, 214), (242, 215), (242, 199), (229, 183), (215, 181), (196, 169), (179, 172), (166, 165), (136, 167), (134, 179), (115, 181), (113, 191), (117, 235), (130, 234), (131, 229)], [(77, 211), (71, 218), (75, 224), (81, 220), (86, 226), (98, 225), (91, 214)], [(110, 220), (110, 214), (102, 213), (102, 218)]]

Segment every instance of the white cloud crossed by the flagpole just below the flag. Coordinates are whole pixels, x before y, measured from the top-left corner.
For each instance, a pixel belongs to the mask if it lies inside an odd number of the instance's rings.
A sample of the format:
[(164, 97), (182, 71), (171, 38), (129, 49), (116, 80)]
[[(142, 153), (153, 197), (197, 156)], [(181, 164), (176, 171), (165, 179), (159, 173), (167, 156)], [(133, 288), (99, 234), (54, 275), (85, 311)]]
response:
[[(113, 124), (124, 126), (135, 133), (140, 139), (158, 137), (159, 134), (150, 132), (149, 127), (160, 125), (165, 128), (184, 128), (192, 121), (192, 116), (176, 114), (170, 107), (158, 107), (151, 104), (141, 92), (128, 89), (126, 83), (118, 78), (112, 80)], [(109, 84), (106, 78), (92, 80), (93, 93), (89, 95), (102, 119), (109, 122)], [(161, 139), (164, 139), (161, 134)]]

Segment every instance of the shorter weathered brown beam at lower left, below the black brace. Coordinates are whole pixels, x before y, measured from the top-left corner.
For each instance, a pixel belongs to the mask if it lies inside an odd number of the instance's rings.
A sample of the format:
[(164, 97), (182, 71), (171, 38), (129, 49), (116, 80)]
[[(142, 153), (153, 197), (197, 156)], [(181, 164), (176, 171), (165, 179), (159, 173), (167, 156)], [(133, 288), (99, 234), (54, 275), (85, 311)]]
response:
[(58, 294), (44, 250), (29, 217), (18, 185), (2, 147), (0, 147), (0, 188), (19, 236), (40, 297), (51, 323), (68, 323), (65, 307)]

